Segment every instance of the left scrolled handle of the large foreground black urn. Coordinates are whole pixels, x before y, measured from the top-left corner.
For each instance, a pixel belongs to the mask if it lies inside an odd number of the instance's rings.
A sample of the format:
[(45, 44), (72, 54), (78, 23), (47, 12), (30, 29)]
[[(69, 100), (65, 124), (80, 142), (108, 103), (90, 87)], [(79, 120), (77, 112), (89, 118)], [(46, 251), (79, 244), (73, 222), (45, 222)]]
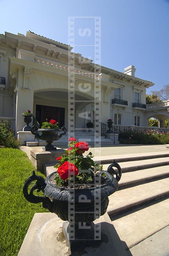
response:
[[(31, 188), (30, 193), (28, 193), (28, 187), (31, 184), (32, 181), (37, 180), (36, 184)], [(50, 212), (52, 211), (52, 202), (51, 200), (46, 196), (35, 196), (33, 195), (33, 191), (37, 189), (37, 192), (43, 191), (43, 188), (45, 187), (45, 179), (41, 176), (38, 176), (35, 174), (35, 171), (33, 171), (32, 176), (30, 176), (24, 184), (23, 188), (23, 194), (30, 203), (38, 204), (43, 203), (42, 206), (46, 209), (48, 209)]]

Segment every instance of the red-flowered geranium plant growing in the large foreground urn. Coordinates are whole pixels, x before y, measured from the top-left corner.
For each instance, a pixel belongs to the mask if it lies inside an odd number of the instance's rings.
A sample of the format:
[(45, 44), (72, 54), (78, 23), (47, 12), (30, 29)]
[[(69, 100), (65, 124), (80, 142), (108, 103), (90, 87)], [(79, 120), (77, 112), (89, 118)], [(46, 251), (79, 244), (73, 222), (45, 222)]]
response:
[(93, 184), (96, 175), (100, 175), (102, 180), (105, 179), (105, 174), (102, 173), (102, 165), (93, 161), (91, 152), (86, 157), (83, 156), (89, 147), (85, 141), (77, 142), (74, 137), (69, 138), (68, 149), (65, 154), (56, 158), (59, 161), (54, 167), (57, 168), (56, 172), (56, 185), (68, 186), (68, 181), (73, 174), (74, 183), (76, 186), (82, 184)]

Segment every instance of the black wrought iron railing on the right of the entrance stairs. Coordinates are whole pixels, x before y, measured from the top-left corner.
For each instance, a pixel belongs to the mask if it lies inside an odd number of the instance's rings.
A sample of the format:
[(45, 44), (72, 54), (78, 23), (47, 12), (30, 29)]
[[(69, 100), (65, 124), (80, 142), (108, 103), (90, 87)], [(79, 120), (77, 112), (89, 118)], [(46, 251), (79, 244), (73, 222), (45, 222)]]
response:
[(114, 126), (108, 127), (108, 124), (101, 123), (99, 121), (94, 122), (95, 132), (99, 132), (101, 136), (114, 141), (115, 144), (115, 133), (116, 129)]

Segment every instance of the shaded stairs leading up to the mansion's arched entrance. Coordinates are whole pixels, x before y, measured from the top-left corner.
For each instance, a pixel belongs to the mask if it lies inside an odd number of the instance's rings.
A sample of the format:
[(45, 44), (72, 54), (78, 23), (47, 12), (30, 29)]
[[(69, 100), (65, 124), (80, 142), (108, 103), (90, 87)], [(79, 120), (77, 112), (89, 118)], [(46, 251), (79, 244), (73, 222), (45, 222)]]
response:
[[(68, 144), (68, 138), (70, 137), (75, 137), (77, 141), (86, 141), (89, 145), (93, 145), (99, 141), (101, 144), (108, 144), (108, 145), (113, 145), (114, 140), (111, 139), (105, 139), (104, 136), (101, 136), (100, 133), (98, 132), (67, 132), (60, 140), (54, 141), (53, 145), (54, 146), (59, 146), (59, 145), (67, 145)], [(97, 143), (97, 144), (99, 144)], [(118, 141), (118, 134), (115, 136), (115, 144), (119, 144)], [(39, 146), (45, 146), (46, 141), (44, 140), (39, 140)], [(34, 147), (38, 146), (38, 140), (35, 139), (32, 142), (26, 142), (27, 147)]]

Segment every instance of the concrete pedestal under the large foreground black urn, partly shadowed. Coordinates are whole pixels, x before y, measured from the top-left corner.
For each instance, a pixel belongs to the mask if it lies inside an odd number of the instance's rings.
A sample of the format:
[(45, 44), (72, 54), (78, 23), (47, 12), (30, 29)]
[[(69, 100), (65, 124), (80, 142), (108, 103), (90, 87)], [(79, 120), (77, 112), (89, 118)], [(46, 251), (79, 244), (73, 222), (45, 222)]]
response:
[(107, 239), (71, 254), (62, 231), (63, 221), (54, 213), (35, 213), (18, 256), (128, 256), (107, 213), (95, 220)]

